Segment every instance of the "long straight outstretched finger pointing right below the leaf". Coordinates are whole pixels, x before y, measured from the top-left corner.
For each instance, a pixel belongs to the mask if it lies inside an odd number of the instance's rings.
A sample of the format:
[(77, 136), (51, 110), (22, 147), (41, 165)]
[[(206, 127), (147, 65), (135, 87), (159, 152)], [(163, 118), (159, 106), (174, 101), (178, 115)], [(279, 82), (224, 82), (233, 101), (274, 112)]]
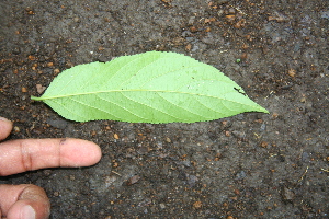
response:
[(25, 139), (0, 143), (0, 175), (43, 168), (93, 165), (101, 159), (98, 145), (81, 139)]

